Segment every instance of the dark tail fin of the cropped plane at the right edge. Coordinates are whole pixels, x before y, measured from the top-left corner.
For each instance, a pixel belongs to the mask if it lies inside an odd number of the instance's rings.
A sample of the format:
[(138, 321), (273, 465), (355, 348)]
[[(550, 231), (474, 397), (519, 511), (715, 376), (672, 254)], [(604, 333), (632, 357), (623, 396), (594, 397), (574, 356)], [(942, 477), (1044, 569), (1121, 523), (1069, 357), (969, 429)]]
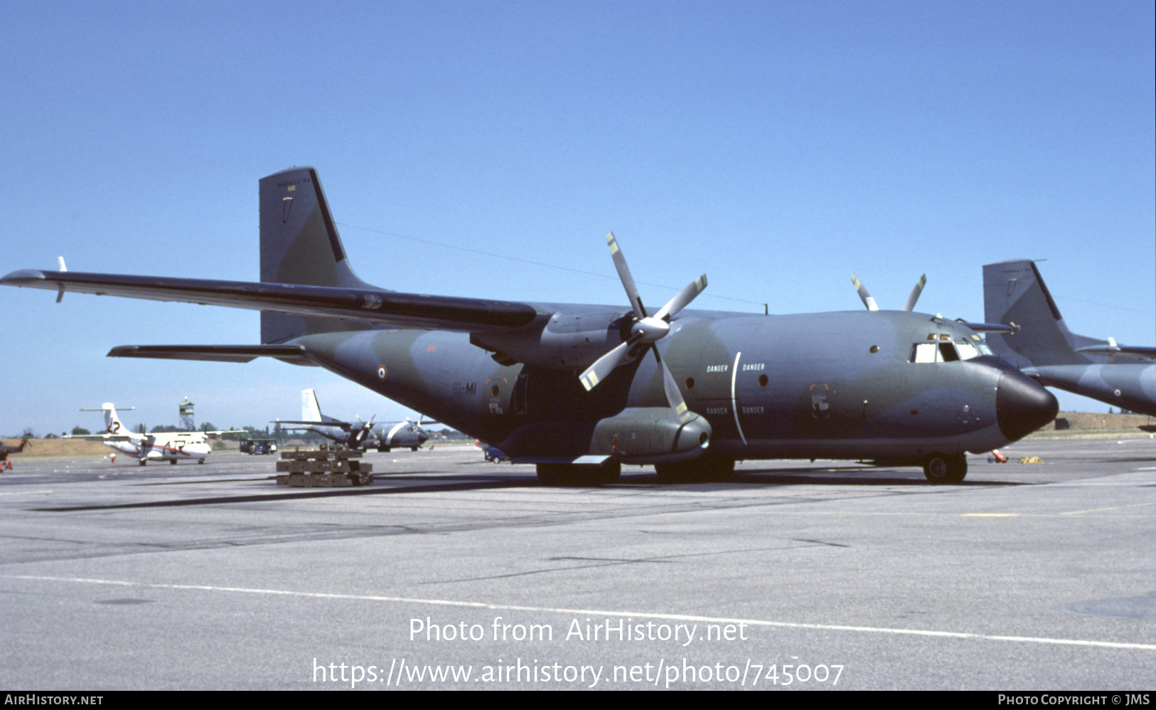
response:
[(1104, 342), (1068, 330), (1039, 269), (1029, 260), (984, 266), (984, 319), (1016, 328), (1009, 335), (992, 333), (987, 342), (1018, 367), (1088, 364), (1092, 358), (1075, 349)]

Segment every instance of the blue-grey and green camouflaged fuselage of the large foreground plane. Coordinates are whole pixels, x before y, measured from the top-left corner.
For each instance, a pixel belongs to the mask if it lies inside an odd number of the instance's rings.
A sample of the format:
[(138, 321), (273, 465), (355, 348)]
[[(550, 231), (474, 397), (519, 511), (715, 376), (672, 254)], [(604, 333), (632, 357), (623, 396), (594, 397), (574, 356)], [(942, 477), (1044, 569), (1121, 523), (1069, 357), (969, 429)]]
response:
[[(588, 331), (588, 339), (618, 338), (621, 317)], [(999, 360), (911, 362), (913, 345), (929, 336), (969, 342), (975, 334), (899, 311), (688, 312), (672, 324), (660, 353), (689, 408), (710, 423), (710, 452), (727, 458), (916, 460), (933, 451), (987, 451), (1043, 423), (1038, 414), (1020, 421), (1043, 398)], [(334, 332), (292, 342), (317, 364), (516, 459), (585, 456), (600, 420), (666, 406), (651, 357), (620, 367), (587, 392), (573, 371), (501, 365), (461, 333)], [(1031, 401), (1008, 404), (1018, 395), (1009, 391), (1028, 391)], [(622, 446), (629, 457), (629, 444)]]

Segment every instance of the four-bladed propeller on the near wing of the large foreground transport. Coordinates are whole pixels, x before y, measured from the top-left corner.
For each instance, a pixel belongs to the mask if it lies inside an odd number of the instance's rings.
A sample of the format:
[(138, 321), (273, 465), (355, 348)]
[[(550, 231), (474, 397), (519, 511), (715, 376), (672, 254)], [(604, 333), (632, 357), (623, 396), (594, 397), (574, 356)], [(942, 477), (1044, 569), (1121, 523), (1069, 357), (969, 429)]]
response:
[(667, 402), (674, 409), (674, 414), (679, 421), (686, 423), (690, 421), (692, 415), (687, 409), (687, 402), (682, 399), (682, 392), (679, 391), (679, 385), (674, 382), (674, 376), (670, 375), (669, 368), (662, 362), (662, 357), (658, 354), (658, 348), (654, 343), (670, 332), (670, 319), (706, 288), (706, 274), (687, 284), (674, 298), (670, 298), (666, 305), (659, 309), (657, 313), (647, 316), (646, 309), (643, 308), (643, 299), (638, 295), (638, 287), (635, 286), (635, 279), (630, 275), (630, 267), (627, 266), (627, 259), (622, 256), (622, 250), (618, 247), (617, 239), (614, 238), (614, 232), (606, 235), (606, 244), (610, 247), (610, 258), (614, 259), (614, 267), (618, 271), (618, 279), (622, 280), (622, 287), (627, 290), (627, 298), (633, 309), (633, 323), (630, 325), (630, 335), (621, 345), (599, 357), (594, 364), (581, 374), (579, 379), (587, 391), (593, 390), (614, 368), (630, 357), (631, 352), (636, 348), (650, 348), (654, 353), (654, 360), (658, 361), (659, 369), (662, 370), (662, 389), (666, 391)]

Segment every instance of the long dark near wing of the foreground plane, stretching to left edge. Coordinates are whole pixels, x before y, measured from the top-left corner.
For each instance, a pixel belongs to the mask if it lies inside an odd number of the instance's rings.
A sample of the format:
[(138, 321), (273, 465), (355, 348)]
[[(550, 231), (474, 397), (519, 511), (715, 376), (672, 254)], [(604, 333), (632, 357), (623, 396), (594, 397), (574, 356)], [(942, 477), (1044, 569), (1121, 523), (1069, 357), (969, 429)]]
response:
[[(76, 291), (459, 332), (519, 328), (539, 316), (534, 306), (509, 301), (252, 281), (22, 269), (0, 279), (0, 284), (43, 288), (61, 296), (65, 291)], [(166, 357), (161, 354), (136, 356)]]

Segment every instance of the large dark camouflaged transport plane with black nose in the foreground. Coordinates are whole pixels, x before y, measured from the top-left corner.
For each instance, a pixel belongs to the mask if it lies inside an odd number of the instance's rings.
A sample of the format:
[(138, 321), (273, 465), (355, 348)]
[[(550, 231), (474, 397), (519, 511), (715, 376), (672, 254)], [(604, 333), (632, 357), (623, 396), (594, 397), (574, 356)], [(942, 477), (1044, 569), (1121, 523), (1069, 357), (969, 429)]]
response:
[(354, 273), (317, 172), (260, 180), (261, 281), (17, 271), (8, 286), (261, 311), (261, 345), (120, 346), (109, 355), (316, 364), (538, 464), (547, 483), (716, 478), (736, 459), (922, 465), (959, 481), (964, 452), (1055, 415), (1033, 379), (938, 316), (658, 310), (607, 245), (629, 305), (517, 303), (385, 290)]

